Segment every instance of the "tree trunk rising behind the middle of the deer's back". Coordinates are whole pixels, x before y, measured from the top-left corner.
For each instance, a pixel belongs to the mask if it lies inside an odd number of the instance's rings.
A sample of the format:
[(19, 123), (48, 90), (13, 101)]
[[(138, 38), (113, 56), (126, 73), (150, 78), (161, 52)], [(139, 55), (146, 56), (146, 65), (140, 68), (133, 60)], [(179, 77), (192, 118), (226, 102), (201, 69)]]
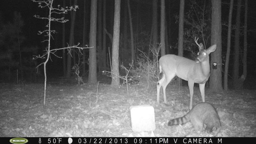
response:
[(183, 57), (184, 42), (184, 5), (185, 0), (180, 0), (178, 55), (181, 57)]

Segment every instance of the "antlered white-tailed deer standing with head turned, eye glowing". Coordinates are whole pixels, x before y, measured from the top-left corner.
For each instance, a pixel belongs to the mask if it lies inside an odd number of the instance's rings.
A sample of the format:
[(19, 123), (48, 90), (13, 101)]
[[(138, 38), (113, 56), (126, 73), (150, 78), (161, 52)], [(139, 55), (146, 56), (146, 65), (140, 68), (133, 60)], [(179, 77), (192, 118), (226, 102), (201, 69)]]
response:
[(202, 100), (204, 102), (204, 85), (210, 76), (209, 54), (216, 50), (216, 44), (204, 49), (202, 43), (197, 43), (199, 52), (196, 60), (189, 60), (173, 54), (167, 54), (159, 59), (159, 73), (163, 72), (162, 78), (157, 82), (157, 103), (159, 103), (160, 88), (162, 86), (164, 103), (166, 103), (165, 89), (174, 76), (188, 81), (190, 93), (189, 109), (192, 109), (194, 83), (199, 84)]

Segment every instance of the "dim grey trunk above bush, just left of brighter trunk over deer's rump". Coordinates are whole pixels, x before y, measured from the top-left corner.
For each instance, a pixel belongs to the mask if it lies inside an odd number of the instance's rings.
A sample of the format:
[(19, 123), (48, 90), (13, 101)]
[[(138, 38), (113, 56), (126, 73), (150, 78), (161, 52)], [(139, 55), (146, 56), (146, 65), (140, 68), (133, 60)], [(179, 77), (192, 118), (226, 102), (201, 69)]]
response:
[(157, 48), (157, 0), (153, 0), (152, 2), (152, 27), (153, 27), (153, 33), (152, 33), (152, 41), (154, 48)]

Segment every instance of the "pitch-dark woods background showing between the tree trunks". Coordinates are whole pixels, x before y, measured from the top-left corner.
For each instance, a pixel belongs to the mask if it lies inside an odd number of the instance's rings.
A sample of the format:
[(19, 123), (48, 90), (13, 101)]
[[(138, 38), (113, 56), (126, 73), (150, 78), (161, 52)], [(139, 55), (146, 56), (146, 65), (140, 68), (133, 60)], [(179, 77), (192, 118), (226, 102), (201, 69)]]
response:
[[(85, 44), (89, 45), (89, 32), (90, 32), (90, 8), (91, 1), (85, 0), (86, 4), (84, 7), (84, 0), (77, 0), (79, 9), (76, 11), (75, 29), (74, 29), (74, 44), (83, 43), (83, 19), (85, 17)], [(224, 63), (226, 57), (227, 48), (227, 31), (228, 31), (228, 12), (229, 12), (229, 0), (221, 1), (221, 21), (222, 21), (222, 75), (224, 74)], [(103, 3), (103, 0), (102, 0)], [(98, 1), (99, 4), (99, 1)], [(54, 7), (60, 5), (63, 7), (63, 0), (54, 0)], [(74, 0), (66, 0), (66, 6), (74, 5)], [(149, 41), (152, 27), (152, 0), (130, 0), (131, 14), (132, 14), (132, 25), (134, 34), (135, 44), (135, 60), (139, 56), (139, 51), (148, 52)], [(247, 70), (248, 74), (244, 83), (244, 88), (255, 89), (255, 1), (248, 1), (248, 32), (247, 32)], [(160, 43), (160, 0), (157, 3), (157, 41)], [(185, 1), (185, 15), (184, 15), (184, 57), (193, 59), (194, 53), (197, 53), (197, 47), (194, 43), (194, 37), (200, 37), (200, 33), (192, 25), (196, 24), (198, 17), (204, 15), (204, 34), (210, 36), (211, 34), (211, 1), (210, 0), (186, 0)], [(103, 9), (103, 6), (98, 9)], [(166, 54), (178, 54), (178, 34), (179, 34), (179, 8), (180, 0), (166, 0), (165, 1), (165, 12), (166, 12), (166, 28), (168, 39), (165, 42)], [(84, 9), (86, 15), (84, 15)], [(125, 10), (126, 9), (126, 10)], [(204, 13), (203, 10), (204, 9)], [(232, 33), (231, 33), (231, 53), (229, 60), (229, 79), (232, 81), (232, 68), (233, 68), (233, 52), (234, 52), (234, 35), (235, 35), (235, 23), (236, 23), (236, 11), (237, 11), (237, 0), (234, 1), (233, 14), (232, 14)], [(99, 12), (99, 11), (98, 11)], [(101, 11), (102, 12), (102, 11)], [(127, 12), (125, 16), (125, 12)], [(43, 67), (37, 69), (36, 66), (44, 60), (32, 60), (33, 55), (39, 55), (44, 53), (46, 43), (42, 43), (45, 39), (42, 35), (37, 35), (38, 31), (45, 29), (47, 21), (36, 19), (33, 16), (40, 15), (41, 17), (48, 16), (48, 9), (39, 8), (37, 3), (30, 0), (1, 0), (0, 2), (0, 82), (14, 82), (18, 77), (22, 81), (27, 82), (38, 82), (44, 78)], [(62, 17), (62, 15), (56, 15), (53, 17)], [(119, 41), (119, 64), (128, 66), (131, 63), (131, 45), (130, 45), (130, 25), (129, 16), (127, 10), (127, 1), (121, 0), (121, 12), (120, 12), (120, 41)], [(69, 42), (70, 34), (70, 23), (71, 23), (71, 12), (65, 14), (65, 18), (69, 21), (65, 23), (65, 46)], [(17, 20), (18, 19), (18, 20)], [(200, 19), (200, 18), (199, 18)], [(243, 72), (243, 28), (244, 28), (244, 0), (242, 0), (241, 7), (241, 23), (240, 23), (240, 68), (239, 76)], [(113, 36), (113, 23), (114, 23), (114, 0), (106, 0), (106, 30)], [(97, 24), (99, 22), (97, 21)], [(125, 28), (125, 24), (126, 27)], [(19, 27), (19, 29), (14, 30)], [(62, 47), (62, 30), (63, 25), (61, 23), (52, 23), (52, 30), (56, 30), (57, 33), (53, 35), (54, 40), (51, 41), (51, 48)], [(195, 26), (196, 27), (196, 26)], [(98, 28), (98, 27), (97, 27)], [(125, 32), (125, 29), (127, 30)], [(19, 31), (20, 47), (18, 46), (17, 31)], [(98, 32), (98, 30), (97, 30)], [(97, 33), (97, 36), (99, 34)], [(211, 45), (210, 37), (205, 42), (205, 48)], [(201, 43), (203, 40), (199, 38)], [(127, 45), (125, 45), (125, 43)], [(98, 47), (98, 42), (97, 42)], [(109, 63), (108, 47), (110, 53), (112, 49), (112, 41), (109, 36), (106, 35), (106, 61)], [(99, 52), (99, 51), (98, 51)], [(58, 56), (62, 56), (62, 51), (56, 53)], [(20, 60), (21, 55), (21, 60)], [(80, 55), (81, 57), (81, 55)], [(86, 50), (86, 63), (88, 63), (89, 50)], [(101, 56), (97, 53), (97, 59)], [(52, 61), (51, 61), (52, 60)], [(51, 55), (51, 60), (47, 63), (47, 76), (49, 77), (60, 77), (63, 76), (63, 65), (60, 58)], [(22, 66), (20, 65), (22, 62)], [(78, 62), (78, 52), (76, 51), (76, 61)], [(107, 69), (109, 70), (109, 64), (107, 63)], [(99, 64), (97, 62), (97, 64)], [(88, 64), (86, 64), (86, 70), (88, 71)], [(97, 66), (97, 72), (104, 70), (102, 65)], [(99, 75), (101, 72), (99, 73)], [(84, 74), (87, 77), (88, 73)]]

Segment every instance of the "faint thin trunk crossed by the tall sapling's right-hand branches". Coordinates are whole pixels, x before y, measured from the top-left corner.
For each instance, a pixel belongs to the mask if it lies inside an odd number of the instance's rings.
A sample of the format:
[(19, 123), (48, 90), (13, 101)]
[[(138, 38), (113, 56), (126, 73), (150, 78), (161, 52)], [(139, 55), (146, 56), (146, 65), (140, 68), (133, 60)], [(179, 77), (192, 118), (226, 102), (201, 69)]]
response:
[[(65, 7), (65, 0), (63, 0), (63, 7)], [(65, 17), (63, 13), (62, 17)], [(65, 47), (65, 22), (62, 23), (62, 47)], [(62, 50), (62, 66), (63, 66), (63, 76), (66, 77), (66, 54), (65, 49)]]

